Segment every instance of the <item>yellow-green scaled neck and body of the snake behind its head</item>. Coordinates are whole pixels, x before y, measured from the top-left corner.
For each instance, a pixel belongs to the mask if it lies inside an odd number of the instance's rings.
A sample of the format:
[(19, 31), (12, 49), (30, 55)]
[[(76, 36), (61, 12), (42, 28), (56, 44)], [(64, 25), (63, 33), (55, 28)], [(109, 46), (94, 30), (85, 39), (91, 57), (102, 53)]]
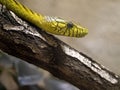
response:
[(32, 10), (17, 2), (16, 0), (0, 0), (0, 3), (5, 5), (7, 9), (13, 11), (17, 16), (21, 17), (22, 19), (29, 21), (37, 25), (38, 27), (40, 27), (40, 25), (42, 24), (42, 21), (44, 19), (43, 15), (33, 12)]

